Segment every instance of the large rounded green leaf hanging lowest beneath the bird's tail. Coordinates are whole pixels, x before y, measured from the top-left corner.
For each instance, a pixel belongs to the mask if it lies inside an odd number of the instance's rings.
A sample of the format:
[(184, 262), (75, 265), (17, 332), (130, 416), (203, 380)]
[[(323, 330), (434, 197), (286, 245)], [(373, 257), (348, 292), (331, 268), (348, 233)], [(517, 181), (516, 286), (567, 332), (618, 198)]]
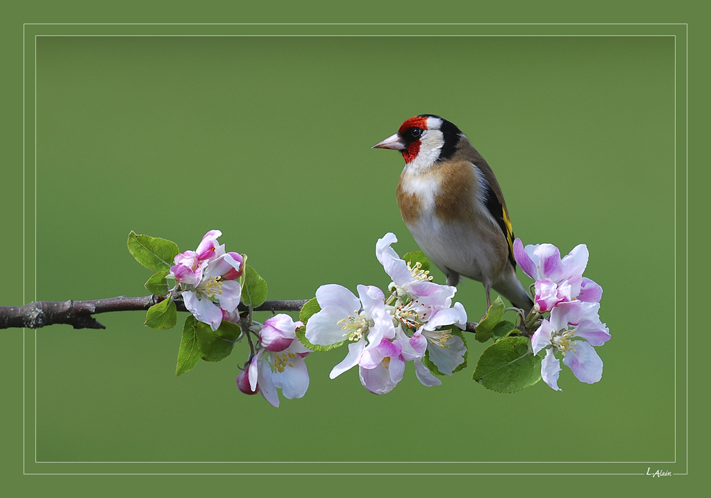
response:
[(491, 391), (515, 393), (540, 381), (540, 358), (528, 339), (506, 337), (484, 350), (471, 378)]

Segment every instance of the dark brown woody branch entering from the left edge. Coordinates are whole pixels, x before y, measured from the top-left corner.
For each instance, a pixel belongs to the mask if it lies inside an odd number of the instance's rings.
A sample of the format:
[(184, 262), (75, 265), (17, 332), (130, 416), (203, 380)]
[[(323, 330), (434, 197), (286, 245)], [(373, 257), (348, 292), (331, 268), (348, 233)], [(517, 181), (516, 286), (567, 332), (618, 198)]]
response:
[[(68, 324), (75, 329), (105, 329), (92, 314), (116, 311), (146, 311), (164, 300), (163, 296), (109, 297), (91, 301), (38, 301), (24, 306), (0, 306), (0, 329), (26, 327), (39, 329), (47, 325)], [(300, 311), (307, 300), (264, 301), (254, 311)], [(181, 300), (176, 300), (178, 311), (188, 311)], [(247, 307), (240, 303), (240, 311)]]

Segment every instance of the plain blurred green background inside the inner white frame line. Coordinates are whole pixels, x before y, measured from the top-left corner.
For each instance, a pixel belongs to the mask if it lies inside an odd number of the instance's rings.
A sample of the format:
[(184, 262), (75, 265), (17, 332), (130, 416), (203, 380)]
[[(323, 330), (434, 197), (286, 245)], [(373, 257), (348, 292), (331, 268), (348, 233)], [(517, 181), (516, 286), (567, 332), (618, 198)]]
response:
[[(144, 294), (130, 230), (187, 249), (220, 228), (272, 299), (327, 282), (384, 287), (375, 240), (394, 231), (398, 252), (415, 245), (395, 203), (402, 159), (370, 146), (434, 112), (493, 166), (524, 243), (587, 243), (613, 340), (599, 349), (602, 382), (564, 371), (563, 393), (486, 391), (468, 375), (483, 349), (474, 341), (469, 369), (443, 386), (424, 388), (409, 368), (380, 397), (355, 371), (328, 379), (343, 351), (314, 354), (309, 392), (277, 410), (237, 392), (244, 348), (176, 378), (178, 329), (109, 314), (106, 331), (36, 333), (38, 461), (642, 463), (31, 472), (643, 473), (685, 462), (683, 442), (674, 451), (674, 62), (673, 38), (648, 37), (39, 38), (38, 300)], [(470, 319), (483, 314), (480, 287), (458, 294)]]

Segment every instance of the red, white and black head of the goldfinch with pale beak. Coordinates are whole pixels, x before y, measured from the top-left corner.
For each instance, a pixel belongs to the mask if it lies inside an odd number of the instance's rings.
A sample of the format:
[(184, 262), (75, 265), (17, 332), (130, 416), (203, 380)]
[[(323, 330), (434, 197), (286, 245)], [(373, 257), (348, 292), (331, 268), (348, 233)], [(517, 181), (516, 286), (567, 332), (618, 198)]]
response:
[(454, 155), (461, 136), (459, 128), (451, 122), (422, 114), (402, 123), (396, 134), (373, 145), (373, 149), (397, 150), (407, 164), (431, 166)]

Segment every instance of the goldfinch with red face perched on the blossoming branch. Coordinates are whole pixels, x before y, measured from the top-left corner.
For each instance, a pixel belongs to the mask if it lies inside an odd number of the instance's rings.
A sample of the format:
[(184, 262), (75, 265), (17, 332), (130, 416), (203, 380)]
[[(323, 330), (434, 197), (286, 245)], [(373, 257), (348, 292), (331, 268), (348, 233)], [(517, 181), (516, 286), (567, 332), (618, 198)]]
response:
[(397, 150), (405, 168), (397, 205), (415, 242), (447, 277), (483, 284), (529, 312), (528, 291), (516, 276), (513, 228), (491, 167), (455, 124), (432, 114), (411, 117), (373, 149)]

